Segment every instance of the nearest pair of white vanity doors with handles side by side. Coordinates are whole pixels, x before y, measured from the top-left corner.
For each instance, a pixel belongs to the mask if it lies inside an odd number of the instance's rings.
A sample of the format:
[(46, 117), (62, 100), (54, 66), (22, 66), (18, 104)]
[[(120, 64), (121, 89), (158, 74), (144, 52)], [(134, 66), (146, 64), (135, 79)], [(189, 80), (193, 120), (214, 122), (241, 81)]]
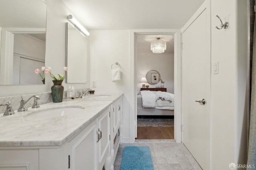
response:
[(70, 170), (102, 170), (109, 154), (110, 110), (68, 142)]

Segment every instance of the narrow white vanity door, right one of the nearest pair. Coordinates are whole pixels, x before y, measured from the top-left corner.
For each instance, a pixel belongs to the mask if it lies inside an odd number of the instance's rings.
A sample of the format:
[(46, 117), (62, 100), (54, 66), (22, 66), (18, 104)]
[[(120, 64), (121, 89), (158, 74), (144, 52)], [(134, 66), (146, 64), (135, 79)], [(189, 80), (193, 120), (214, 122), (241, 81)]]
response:
[(110, 110), (107, 109), (98, 117), (98, 170), (102, 170), (109, 153), (110, 145)]

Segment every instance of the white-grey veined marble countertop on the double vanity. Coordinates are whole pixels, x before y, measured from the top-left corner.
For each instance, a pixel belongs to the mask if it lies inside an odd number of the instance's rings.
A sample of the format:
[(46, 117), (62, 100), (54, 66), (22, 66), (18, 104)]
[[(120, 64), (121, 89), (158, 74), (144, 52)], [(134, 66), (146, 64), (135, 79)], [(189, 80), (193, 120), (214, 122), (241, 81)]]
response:
[[(105, 94), (104, 94), (105, 95)], [(61, 103), (46, 103), (38, 109), (26, 112), (15, 111), (15, 115), (0, 114), (0, 147), (5, 146), (61, 146), (96, 119), (102, 111), (116, 101), (122, 93), (86, 99), (64, 100)], [(48, 108), (83, 107), (81, 111), (61, 117), (32, 119), (31, 112)]]

